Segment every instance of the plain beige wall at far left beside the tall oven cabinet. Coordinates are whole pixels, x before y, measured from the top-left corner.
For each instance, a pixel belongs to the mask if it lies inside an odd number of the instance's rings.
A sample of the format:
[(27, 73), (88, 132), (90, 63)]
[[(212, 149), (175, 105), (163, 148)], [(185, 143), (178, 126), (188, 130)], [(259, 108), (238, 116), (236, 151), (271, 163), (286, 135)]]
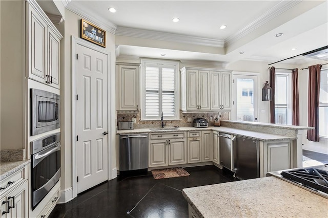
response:
[[(1, 143), (25, 148), (25, 8), (21, 1), (1, 4)], [(9, 10), (10, 9), (10, 10)]]

